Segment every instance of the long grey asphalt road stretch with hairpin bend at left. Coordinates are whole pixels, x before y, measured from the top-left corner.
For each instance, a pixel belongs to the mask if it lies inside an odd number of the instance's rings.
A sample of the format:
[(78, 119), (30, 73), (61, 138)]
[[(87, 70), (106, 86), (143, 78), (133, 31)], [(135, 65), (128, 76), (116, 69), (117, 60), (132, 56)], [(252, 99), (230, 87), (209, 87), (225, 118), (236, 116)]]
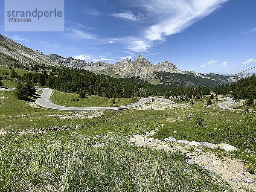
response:
[[(88, 107), (88, 108), (75, 108), (75, 107), (65, 107), (61, 105), (56, 105), (50, 101), (50, 96), (52, 95), (52, 89), (49, 88), (36, 88), (37, 90), (41, 90), (43, 93), (42, 95), (36, 99), (35, 103), (41, 107), (49, 108), (49, 109), (57, 109), (57, 110), (65, 110), (65, 111), (87, 111), (87, 110), (119, 110), (119, 109), (128, 109), (128, 108), (134, 108), (138, 107), (140, 105), (145, 104), (146, 102), (152, 101), (152, 97), (146, 97), (140, 99), (137, 103), (134, 103), (132, 105), (126, 105), (126, 106), (118, 106), (118, 107)], [(175, 102), (172, 102), (169, 99), (163, 99), (154, 97), (154, 101), (161, 101), (166, 102), (168, 104), (173, 104)]]

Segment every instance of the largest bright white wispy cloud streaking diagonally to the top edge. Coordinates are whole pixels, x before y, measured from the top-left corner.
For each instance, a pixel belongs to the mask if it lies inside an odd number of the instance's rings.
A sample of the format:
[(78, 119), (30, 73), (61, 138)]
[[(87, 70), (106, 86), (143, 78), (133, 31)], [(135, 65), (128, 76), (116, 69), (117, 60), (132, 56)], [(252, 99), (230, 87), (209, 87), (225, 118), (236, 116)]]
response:
[(220, 8), (228, 0), (136, 0), (134, 4), (142, 7), (154, 18), (151, 26), (142, 32), (140, 45), (134, 41), (131, 50), (148, 50), (157, 42), (163, 43), (169, 35), (182, 32), (203, 17)]

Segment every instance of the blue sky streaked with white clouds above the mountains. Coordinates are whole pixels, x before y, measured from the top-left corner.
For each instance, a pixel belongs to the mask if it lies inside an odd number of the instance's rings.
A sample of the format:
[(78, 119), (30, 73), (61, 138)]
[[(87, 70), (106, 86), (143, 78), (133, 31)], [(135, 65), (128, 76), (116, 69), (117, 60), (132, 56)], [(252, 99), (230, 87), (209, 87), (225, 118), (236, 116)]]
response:
[(64, 32), (5, 32), (3, 7), (0, 33), (44, 54), (109, 63), (143, 55), (200, 73), (256, 65), (255, 0), (65, 0)]

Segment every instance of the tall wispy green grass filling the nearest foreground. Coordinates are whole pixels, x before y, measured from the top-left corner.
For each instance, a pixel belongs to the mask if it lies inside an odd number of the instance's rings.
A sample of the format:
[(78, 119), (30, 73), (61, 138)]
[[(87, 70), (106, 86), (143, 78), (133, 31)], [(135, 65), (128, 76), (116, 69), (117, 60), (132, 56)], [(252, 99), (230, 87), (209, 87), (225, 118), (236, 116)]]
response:
[[(26, 138), (26, 137), (24, 137)], [(181, 153), (126, 144), (92, 148), (67, 141), (0, 139), (3, 192), (222, 191)]]

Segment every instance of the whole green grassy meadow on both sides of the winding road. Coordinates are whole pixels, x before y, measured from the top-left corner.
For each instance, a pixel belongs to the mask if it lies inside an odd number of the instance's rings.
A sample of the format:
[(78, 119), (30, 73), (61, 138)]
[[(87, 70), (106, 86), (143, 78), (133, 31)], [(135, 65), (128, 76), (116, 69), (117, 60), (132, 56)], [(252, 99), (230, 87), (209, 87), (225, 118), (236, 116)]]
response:
[[(112, 99), (94, 97), (80, 99), (78, 104), (73, 101), (76, 94), (55, 92), (51, 100), (66, 106), (113, 105)], [(122, 99), (116, 99), (117, 105), (131, 102)], [(253, 111), (222, 110), (217, 106), (221, 101), (207, 108), (208, 99), (195, 99), (193, 106), (183, 102), (166, 110), (102, 111), (100, 116), (86, 118), (92, 114), (32, 108), (31, 103), (16, 99), (13, 91), (0, 91), (0, 130), (11, 131), (0, 136), (0, 191), (233, 191), (201, 167), (186, 163), (182, 153), (138, 148), (129, 142), (131, 135), (163, 124), (154, 138), (229, 143), (241, 149), (236, 157), (253, 172), (256, 156), (246, 152), (256, 147)], [(195, 116), (202, 110), (206, 126), (197, 127)], [(51, 129), (61, 126), (66, 127)], [(45, 133), (29, 133), (46, 128)], [(27, 132), (17, 134), (18, 130)]]

